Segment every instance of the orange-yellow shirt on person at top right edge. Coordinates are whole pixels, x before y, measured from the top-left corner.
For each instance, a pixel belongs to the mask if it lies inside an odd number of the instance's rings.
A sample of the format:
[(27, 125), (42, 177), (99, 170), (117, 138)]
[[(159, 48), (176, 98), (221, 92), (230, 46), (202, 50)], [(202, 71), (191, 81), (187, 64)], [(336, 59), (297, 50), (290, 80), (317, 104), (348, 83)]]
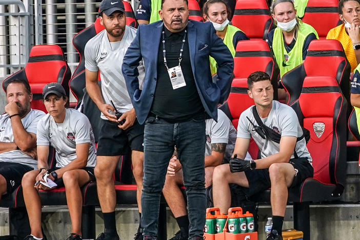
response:
[(336, 39), (343, 45), (346, 58), (348, 58), (351, 66), (351, 72), (354, 71), (354, 69), (357, 67), (356, 56), (352, 47), (351, 39), (345, 31), (344, 24), (330, 29), (328, 35), (326, 36), (326, 39)]

